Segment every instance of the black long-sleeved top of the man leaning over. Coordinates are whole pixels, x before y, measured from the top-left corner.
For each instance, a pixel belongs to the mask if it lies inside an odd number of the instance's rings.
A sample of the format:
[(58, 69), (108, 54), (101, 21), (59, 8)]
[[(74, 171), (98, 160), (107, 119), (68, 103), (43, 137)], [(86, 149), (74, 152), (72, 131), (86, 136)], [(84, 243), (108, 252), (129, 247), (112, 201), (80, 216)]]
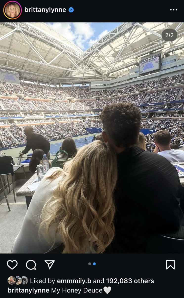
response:
[(22, 151), (24, 154), (29, 150), (42, 149), (45, 154), (50, 150), (50, 143), (41, 134), (32, 134), (31, 139), (26, 139), (26, 148)]

